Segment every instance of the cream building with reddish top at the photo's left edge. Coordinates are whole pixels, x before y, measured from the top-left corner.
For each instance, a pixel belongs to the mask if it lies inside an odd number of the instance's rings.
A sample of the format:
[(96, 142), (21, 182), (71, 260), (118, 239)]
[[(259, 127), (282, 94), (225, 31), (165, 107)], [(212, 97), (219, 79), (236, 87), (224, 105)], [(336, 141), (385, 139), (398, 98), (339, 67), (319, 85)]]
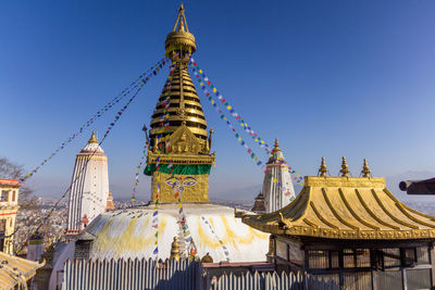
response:
[(20, 180), (0, 179), (0, 251), (13, 254)]

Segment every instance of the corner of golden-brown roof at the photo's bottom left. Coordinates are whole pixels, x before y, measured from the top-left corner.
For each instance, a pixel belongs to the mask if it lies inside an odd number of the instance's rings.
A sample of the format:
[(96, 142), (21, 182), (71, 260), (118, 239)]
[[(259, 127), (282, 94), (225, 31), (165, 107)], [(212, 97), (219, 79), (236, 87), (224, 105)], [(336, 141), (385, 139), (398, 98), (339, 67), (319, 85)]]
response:
[[(34, 277), (36, 270), (42, 266), (44, 263), (0, 252), (0, 288), (15, 289), (16, 286), (21, 286), (24, 289), (26, 281)], [(22, 289), (21, 287), (18, 289)]]

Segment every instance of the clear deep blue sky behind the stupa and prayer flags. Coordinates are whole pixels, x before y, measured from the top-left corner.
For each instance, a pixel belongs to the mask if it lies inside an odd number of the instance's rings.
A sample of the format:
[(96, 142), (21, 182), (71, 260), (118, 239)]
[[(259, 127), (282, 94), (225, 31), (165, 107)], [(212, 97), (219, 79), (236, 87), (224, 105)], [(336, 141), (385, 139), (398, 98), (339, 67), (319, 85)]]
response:
[[(179, 3), (1, 1), (0, 156), (38, 166), (163, 55)], [(278, 137), (299, 174), (315, 175), (325, 156), (337, 175), (343, 155), (353, 176), (363, 157), (375, 176), (435, 172), (434, 1), (184, 4), (200, 66), (260, 136), (270, 144)], [(167, 70), (145, 87), (102, 146), (115, 198), (130, 194), (141, 126), (166, 76)], [(206, 99), (202, 105), (215, 131), (211, 194), (260, 185), (263, 173)], [(115, 113), (94, 128), (105, 131)], [(74, 140), (29, 184), (39, 191), (65, 189), (89, 136)], [(141, 177), (139, 196), (149, 194), (148, 178)]]

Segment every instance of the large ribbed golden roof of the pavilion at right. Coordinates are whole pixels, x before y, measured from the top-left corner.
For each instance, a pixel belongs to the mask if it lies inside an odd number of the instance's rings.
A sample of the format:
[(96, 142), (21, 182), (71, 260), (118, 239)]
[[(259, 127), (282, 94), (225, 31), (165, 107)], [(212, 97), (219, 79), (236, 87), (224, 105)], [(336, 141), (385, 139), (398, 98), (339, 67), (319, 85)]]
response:
[(435, 238), (435, 217), (402, 204), (380, 177), (308, 176), (290, 204), (270, 214), (245, 214), (243, 222), (264, 232), (287, 236)]

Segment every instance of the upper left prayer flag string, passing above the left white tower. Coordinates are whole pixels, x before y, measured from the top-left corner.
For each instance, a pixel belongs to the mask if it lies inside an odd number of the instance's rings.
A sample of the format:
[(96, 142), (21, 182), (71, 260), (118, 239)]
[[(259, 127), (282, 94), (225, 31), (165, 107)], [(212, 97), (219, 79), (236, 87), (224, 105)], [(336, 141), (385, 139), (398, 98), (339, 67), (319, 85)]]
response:
[[(125, 88), (122, 92), (120, 92), (113, 100), (108, 102), (100, 111), (98, 111), (90, 119), (88, 119), (85, 124), (80, 126), (80, 128), (71, 135), (69, 139), (66, 139), (54, 152), (52, 152), (46, 160), (41, 162), (39, 166), (28, 173), (24, 178), (21, 179), (24, 182), (27, 178), (32, 177), (36, 174), (40, 167), (47, 164), (53, 156), (58, 154), (59, 151), (64, 149), (71, 141), (73, 141), (78, 135), (80, 135), (87, 127), (92, 125), (98, 118), (100, 118), (105, 112), (111, 110), (116, 103), (119, 103), (122, 99), (124, 99), (127, 94), (134, 91), (137, 87), (144, 86), (147, 81), (167, 63), (167, 58), (164, 58), (157, 62), (153, 66), (151, 66), (147, 72), (141, 74), (135, 81), (133, 81), (127, 88)], [(148, 74), (148, 75), (147, 75)]]

